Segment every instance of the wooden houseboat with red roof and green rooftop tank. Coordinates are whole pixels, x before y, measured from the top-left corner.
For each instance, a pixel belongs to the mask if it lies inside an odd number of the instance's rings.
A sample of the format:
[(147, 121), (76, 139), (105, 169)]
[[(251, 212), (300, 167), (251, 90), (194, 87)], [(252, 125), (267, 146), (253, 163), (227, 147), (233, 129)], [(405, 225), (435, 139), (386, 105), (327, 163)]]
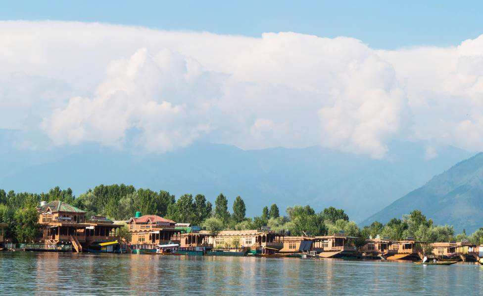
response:
[(141, 215), (136, 212), (128, 222), (133, 250), (154, 250), (157, 245), (180, 242), (182, 230), (175, 228), (176, 222), (157, 215)]

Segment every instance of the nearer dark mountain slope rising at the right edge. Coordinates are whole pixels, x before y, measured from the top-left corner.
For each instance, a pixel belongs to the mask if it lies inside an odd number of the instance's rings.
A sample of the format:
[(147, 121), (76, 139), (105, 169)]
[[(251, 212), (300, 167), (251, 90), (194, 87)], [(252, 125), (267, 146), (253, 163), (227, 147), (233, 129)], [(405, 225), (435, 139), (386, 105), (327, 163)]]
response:
[(391, 203), (361, 224), (387, 222), (419, 209), (436, 224), (453, 225), (457, 232), (483, 225), (483, 153), (435, 176), (424, 186)]

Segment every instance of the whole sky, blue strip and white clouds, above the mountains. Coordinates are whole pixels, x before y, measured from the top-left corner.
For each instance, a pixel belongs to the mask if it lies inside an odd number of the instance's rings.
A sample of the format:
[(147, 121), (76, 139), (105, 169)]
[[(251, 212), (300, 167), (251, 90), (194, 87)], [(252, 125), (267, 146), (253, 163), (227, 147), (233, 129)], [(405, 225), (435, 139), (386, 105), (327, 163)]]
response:
[(483, 149), (480, 2), (4, 1), (18, 149)]

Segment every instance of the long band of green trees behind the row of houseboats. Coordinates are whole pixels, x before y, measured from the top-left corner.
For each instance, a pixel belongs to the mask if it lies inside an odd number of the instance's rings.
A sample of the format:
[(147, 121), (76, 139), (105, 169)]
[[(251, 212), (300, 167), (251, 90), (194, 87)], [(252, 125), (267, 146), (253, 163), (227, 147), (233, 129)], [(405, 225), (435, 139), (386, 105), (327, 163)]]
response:
[(461, 241), (467, 239), (483, 244), (483, 227), (471, 235), (466, 232), (455, 235), (453, 226), (434, 225), (418, 210), (404, 215), (402, 219), (392, 219), (386, 224), (373, 222), (360, 228), (342, 209), (329, 207), (317, 213), (309, 205), (292, 206), (281, 215), (277, 204), (264, 206), (259, 216), (246, 217), (246, 206), (237, 196), (231, 211), (228, 198), (220, 193), (214, 205), (203, 194), (184, 194), (176, 198), (168, 191), (153, 191), (132, 185), (98, 185), (94, 189), (75, 197), (70, 188), (59, 187), (47, 193), (29, 193), (0, 189), (0, 222), (8, 223), (6, 237), (17, 242), (34, 240), (37, 235), (38, 214), (36, 206), (41, 201), (60, 200), (86, 211), (86, 217), (106, 216), (115, 221), (127, 221), (135, 212), (153, 214), (167, 219), (206, 227), (213, 233), (221, 230), (260, 229), (263, 226), (281, 231), (285, 235), (327, 235), (343, 231), (348, 236), (359, 237), (356, 244), (361, 246), (369, 237), (380, 235), (390, 240), (403, 240), (412, 237), (418, 241)]

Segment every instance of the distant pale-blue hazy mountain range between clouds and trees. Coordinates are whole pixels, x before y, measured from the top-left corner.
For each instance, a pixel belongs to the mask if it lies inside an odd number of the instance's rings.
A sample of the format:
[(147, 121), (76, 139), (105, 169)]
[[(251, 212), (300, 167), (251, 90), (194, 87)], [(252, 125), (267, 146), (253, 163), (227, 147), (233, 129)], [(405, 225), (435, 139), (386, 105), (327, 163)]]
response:
[(242, 150), (207, 143), (149, 155), (93, 146), (46, 151), (1, 147), (0, 152), (0, 188), (5, 190), (42, 192), (58, 185), (79, 195), (99, 184), (125, 183), (177, 196), (203, 193), (212, 202), (220, 192), (230, 203), (241, 195), (248, 216), (260, 215), (272, 203), (282, 212), (290, 205), (310, 204), (317, 211), (343, 208), (355, 221), (470, 156), (446, 147), (427, 160), (425, 148), (415, 143), (394, 143), (384, 160), (321, 147)]

